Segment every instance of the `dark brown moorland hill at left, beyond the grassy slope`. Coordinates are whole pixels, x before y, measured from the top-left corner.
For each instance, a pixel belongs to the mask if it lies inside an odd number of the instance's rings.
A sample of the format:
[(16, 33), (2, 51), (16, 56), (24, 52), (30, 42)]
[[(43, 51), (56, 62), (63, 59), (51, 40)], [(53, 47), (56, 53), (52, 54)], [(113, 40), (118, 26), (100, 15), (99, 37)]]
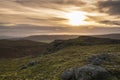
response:
[(0, 58), (16, 58), (37, 55), (45, 49), (46, 43), (29, 40), (0, 40)]

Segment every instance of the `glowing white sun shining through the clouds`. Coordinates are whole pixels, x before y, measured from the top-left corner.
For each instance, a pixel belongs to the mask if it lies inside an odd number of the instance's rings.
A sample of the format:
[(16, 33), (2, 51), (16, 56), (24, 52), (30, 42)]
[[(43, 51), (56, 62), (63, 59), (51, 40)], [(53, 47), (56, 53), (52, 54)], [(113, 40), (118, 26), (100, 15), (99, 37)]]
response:
[(66, 14), (66, 18), (68, 19), (68, 24), (73, 26), (79, 26), (84, 24), (84, 20), (86, 19), (86, 16), (83, 12), (70, 12)]

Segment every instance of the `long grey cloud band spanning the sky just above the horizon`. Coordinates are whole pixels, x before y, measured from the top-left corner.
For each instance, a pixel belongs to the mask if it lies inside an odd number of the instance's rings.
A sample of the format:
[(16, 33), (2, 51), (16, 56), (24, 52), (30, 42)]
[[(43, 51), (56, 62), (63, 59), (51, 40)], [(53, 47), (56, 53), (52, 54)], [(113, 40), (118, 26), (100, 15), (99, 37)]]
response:
[(69, 34), (108, 34), (119, 33), (119, 27), (60, 27), (60, 26), (34, 26), (34, 25), (16, 25), (16, 26), (0, 26), (0, 35), (5, 36), (28, 36), (28, 35), (47, 35), (57, 33), (69, 33)]

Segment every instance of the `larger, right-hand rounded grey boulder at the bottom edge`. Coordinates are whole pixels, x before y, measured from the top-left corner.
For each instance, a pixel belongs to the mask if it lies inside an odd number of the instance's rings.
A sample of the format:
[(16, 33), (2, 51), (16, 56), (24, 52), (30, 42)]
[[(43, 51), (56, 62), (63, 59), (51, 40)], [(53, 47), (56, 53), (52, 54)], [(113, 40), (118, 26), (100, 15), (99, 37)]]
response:
[(75, 72), (76, 80), (107, 80), (109, 76), (107, 70), (92, 64), (80, 67)]

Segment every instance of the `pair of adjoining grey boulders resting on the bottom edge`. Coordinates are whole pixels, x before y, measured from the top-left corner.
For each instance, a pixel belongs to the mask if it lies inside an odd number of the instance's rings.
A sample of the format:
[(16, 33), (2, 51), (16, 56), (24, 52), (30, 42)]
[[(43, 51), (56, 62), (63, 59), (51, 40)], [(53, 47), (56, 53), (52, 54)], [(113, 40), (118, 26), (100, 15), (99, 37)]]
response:
[(62, 80), (107, 80), (110, 74), (104, 68), (97, 65), (86, 65), (80, 68), (65, 70)]

